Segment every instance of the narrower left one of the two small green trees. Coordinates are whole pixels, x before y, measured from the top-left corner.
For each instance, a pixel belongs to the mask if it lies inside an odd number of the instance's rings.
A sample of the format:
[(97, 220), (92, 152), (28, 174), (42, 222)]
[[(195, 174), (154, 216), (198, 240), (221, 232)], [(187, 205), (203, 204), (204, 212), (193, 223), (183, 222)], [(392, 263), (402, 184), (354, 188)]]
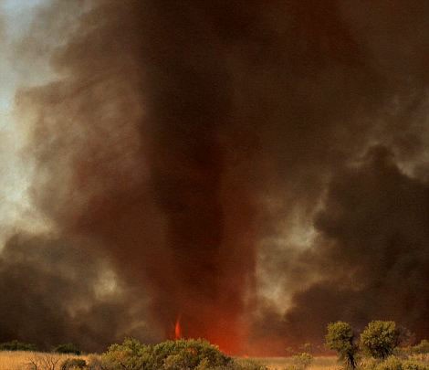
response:
[(356, 368), (355, 355), (358, 351), (354, 343), (354, 333), (348, 322), (330, 322), (325, 343), (331, 350), (337, 351), (340, 361), (351, 369)]

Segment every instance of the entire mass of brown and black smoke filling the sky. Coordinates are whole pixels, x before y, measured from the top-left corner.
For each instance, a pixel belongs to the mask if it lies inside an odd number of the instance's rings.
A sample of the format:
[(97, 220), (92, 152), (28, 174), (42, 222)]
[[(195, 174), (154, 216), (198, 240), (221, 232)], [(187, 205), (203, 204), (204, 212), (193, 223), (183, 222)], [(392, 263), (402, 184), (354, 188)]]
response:
[(231, 354), (321, 344), (336, 320), (428, 337), (428, 16), (424, 0), (41, 7), (11, 48), (49, 63), (15, 110), (51, 229), (9, 227), (0, 340), (102, 350), (178, 318)]

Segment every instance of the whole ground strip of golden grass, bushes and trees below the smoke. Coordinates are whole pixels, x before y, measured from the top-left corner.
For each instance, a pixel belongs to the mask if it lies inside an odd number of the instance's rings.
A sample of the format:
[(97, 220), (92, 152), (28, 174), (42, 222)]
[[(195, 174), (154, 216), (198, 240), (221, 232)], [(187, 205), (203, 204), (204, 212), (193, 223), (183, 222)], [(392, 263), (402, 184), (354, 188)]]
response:
[(429, 370), (429, 341), (405, 344), (403, 333), (395, 322), (370, 322), (362, 333), (348, 322), (331, 322), (325, 345), (337, 352), (340, 365), (333, 357), (314, 357), (311, 344), (288, 357), (248, 359), (227, 356), (202, 339), (141, 344), (129, 338), (88, 355), (75, 344), (37, 353), (33, 344), (12, 341), (0, 344), (0, 370)]

